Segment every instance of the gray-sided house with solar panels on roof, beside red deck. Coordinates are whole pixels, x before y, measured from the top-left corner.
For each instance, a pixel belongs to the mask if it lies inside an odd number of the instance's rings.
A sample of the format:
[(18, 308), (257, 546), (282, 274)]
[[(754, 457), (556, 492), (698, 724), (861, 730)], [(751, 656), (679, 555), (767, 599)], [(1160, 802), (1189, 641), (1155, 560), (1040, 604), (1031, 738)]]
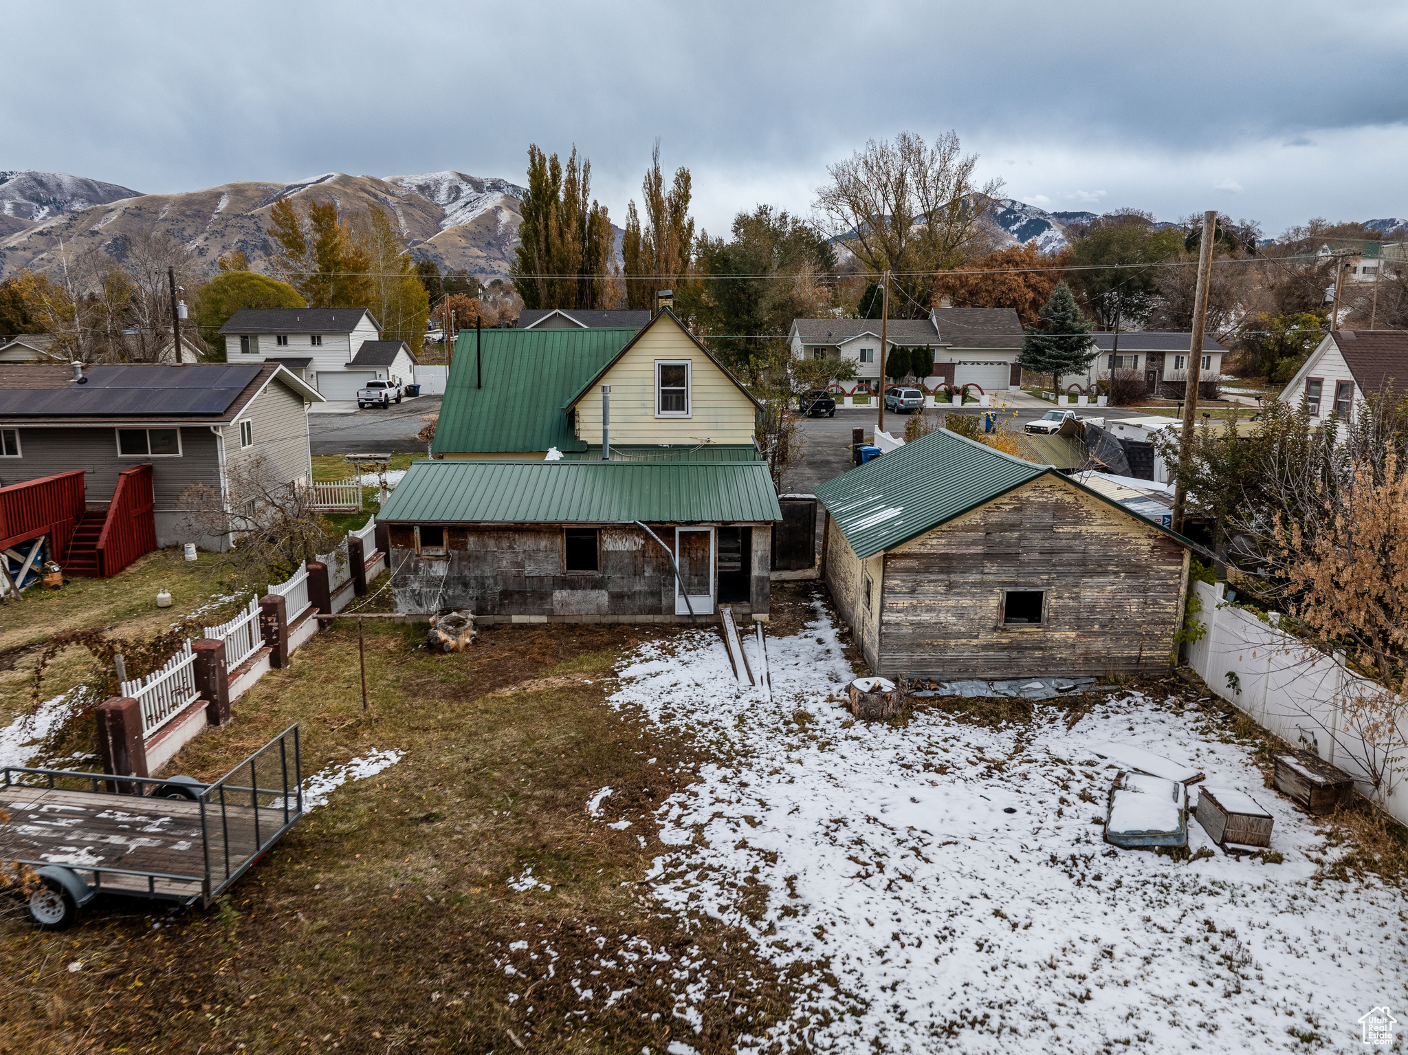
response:
[(4, 365), (0, 486), (83, 469), (87, 500), (106, 503), (118, 473), (149, 463), (156, 545), (224, 548), (189, 537), (182, 492), (204, 483), (228, 506), (241, 475), (310, 482), (307, 407), (321, 401), (279, 363)]

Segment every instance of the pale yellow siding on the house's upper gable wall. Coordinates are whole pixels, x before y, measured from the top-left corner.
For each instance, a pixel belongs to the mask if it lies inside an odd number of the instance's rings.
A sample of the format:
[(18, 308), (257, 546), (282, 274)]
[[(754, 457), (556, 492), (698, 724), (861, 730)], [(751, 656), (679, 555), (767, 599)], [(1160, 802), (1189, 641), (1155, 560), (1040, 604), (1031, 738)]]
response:
[[(690, 417), (655, 417), (655, 361), (690, 362)], [(658, 321), (577, 403), (577, 439), (601, 442), (601, 385), (612, 444), (753, 442), (753, 401), (669, 320)]]

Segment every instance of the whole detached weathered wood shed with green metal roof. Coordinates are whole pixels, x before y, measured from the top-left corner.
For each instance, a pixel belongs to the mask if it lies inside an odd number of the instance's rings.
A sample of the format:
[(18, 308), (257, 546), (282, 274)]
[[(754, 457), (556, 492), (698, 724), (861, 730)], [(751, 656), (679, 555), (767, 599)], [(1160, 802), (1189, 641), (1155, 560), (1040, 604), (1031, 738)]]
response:
[(817, 497), (826, 585), (877, 675), (1169, 669), (1187, 541), (1050, 466), (941, 430)]

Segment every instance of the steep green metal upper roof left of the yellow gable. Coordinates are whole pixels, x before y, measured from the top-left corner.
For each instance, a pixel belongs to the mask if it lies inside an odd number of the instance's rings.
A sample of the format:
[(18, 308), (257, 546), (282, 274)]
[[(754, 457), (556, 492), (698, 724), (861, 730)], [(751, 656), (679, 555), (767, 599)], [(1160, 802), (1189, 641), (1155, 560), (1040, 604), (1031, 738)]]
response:
[[(460, 330), (431, 449), (583, 451), (586, 444), (573, 437), (563, 404), (635, 334), (634, 327), (484, 330), (476, 338), (474, 330)], [(483, 339), (477, 356), (476, 339)]]

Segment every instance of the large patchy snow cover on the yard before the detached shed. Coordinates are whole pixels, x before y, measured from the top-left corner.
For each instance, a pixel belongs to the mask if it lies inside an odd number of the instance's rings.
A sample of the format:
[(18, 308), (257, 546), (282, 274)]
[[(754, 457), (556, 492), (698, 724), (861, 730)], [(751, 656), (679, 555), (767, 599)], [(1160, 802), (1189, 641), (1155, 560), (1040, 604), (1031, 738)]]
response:
[[(1387, 1006), (1405, 1021), (1401, 896), (1316, 880), (1315, 827), (1195, 707), (1122, 693), (1070, 731), (1041, 704), (1033, 721), (997, 728), (925, 713), (904, 728), (852, 723), (850, 670), (819, 606), (804, 632), (769, 639), (769, 659), (772, 703), (735, 685), (717, 632), (649, 644), (611, 703), (718, 759), (660, 807), (670, 849), (649, 885), (673, 910), (748, 930), (779, 965), (815, 965), (810, 999), (772, 1040), (836, 1052), (1359, 1051), (1364, 1013)], [(1176, 863), (1104, 844), (1093, 818), (1114, 770), (1088, 749), (1101, 741), (1253, 794), (1284, 863), (1217, 849)], [(1190, 844), (1209, 845), (1195, 821)]]

